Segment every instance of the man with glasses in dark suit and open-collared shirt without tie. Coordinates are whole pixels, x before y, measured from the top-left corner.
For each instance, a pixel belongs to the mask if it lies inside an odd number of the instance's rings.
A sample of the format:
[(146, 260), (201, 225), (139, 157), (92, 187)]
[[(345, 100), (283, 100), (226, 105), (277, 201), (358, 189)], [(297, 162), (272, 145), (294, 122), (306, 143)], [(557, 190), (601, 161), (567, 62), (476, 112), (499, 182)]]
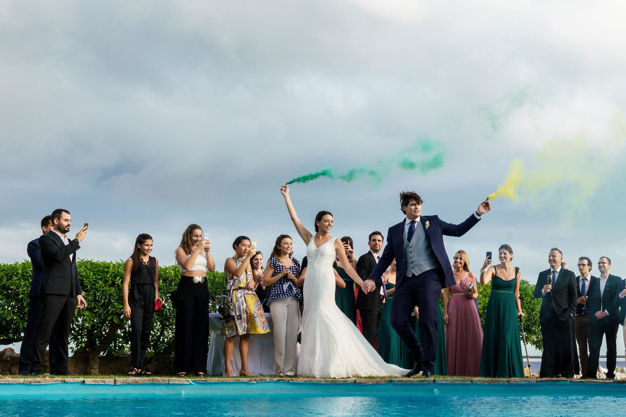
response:
[(622, 279), (611, 275), (611, 260), (603, 256), (598, 260), (600, 277), (595, 278), (588, 294), (591, 348), (589, 349), (589, 378), (597, 378), (602, 337), (607, 338), (607, 378), (615, 378), (617, 364), (617, 331), (620, 327), (620, 310), (615, 304), (615, 294)]

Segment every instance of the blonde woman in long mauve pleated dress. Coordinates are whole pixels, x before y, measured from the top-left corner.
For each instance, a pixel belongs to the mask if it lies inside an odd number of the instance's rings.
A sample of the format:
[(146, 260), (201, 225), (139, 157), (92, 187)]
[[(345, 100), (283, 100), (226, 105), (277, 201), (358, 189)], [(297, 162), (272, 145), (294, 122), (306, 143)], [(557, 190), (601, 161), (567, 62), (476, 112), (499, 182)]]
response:
[(476, 277), (469, 272), (469, 257), (464, 250), (454, 254), (453, 266), (456, 284), (444, 289), (443, 296), (448, 375), (479, 376), (483, 329), (474, 302), (478, 297)]

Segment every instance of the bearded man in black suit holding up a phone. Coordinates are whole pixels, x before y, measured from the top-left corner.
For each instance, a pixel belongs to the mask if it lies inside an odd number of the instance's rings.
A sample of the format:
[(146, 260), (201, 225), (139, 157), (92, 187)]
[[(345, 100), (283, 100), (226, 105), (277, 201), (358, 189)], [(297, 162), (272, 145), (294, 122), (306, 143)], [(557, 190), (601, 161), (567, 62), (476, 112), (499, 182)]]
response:
[[(39, 237), (39, 247), (43, 259), (43, 286), (41, 287), (41, 314), (35, 332), (34, 360), (31, 375), (41, 375), (46, 346), (49, 344), (50, 334), (58, 321), (59, 334), (56, 337), (54, 354), (58, 374), (68, 375), (68, 345), (69, 330), (74, 316), (74, 310), (87, 306), (82, 296), (78, 271), (76, 270), (76, 250), (80, 242), (87, 235), (87, 228), (76, 234), (76, 239), (69, 240), (71, 219), (68, 210), (56, 209), (52, 212), (53, 229)], [(52, 349), (51, 349), (52, 350)]]

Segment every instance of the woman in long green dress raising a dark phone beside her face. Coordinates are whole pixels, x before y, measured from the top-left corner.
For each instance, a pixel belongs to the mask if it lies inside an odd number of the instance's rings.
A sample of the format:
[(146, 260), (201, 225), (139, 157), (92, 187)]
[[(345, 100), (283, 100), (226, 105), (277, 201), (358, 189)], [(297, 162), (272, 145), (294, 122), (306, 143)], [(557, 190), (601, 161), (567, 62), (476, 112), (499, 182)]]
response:
[[(511, 265), (513, 249), (501, 245), (498, 250), (499, 265), (489, 267), (485, 259), (480, 270), (481, 285), (491, 281), (491, 294), (485, 314), (483, 351), (480, 358), (480, 376), (523, 378), (520, 325), (523, 318), (520, 303), (520, 269)], [(485, 270), (488, 268), (488, 270)]]

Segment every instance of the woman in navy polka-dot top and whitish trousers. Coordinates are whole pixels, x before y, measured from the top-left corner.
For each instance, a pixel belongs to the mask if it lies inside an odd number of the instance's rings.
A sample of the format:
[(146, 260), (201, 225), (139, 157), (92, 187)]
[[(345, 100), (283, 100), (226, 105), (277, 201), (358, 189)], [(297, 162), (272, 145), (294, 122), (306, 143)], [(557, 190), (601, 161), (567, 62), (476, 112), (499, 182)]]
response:
[(272, 286), (267, 304), (274, 323), (276, 375), (295, 374), (302, 294), (297, 289), (300, 262), (293, 257), (292, 247), (291, 236), (277, 237), (263, 279), (263, 284)]

